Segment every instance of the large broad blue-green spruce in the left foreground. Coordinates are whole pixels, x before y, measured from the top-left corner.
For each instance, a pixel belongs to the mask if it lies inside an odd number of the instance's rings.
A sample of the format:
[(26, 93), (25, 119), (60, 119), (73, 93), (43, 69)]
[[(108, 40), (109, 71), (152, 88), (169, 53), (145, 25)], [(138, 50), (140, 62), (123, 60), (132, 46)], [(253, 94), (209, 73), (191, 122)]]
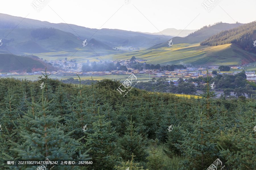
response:
[[(19, 143), (9, 140), (14, 145), (10, 150), (18, 152), (15, 157), (3, 153), (7, 159), (22, 160), (73, 160), (88, 159), (86, 152), (78, 153), (77, 148), (80, 145), (79, 140), (71, 139), (69, 135), (74, 131), (64, 134), (59, 121), (63, 118), (53, 117), (51, 111), (48, 110), (49, 104), (53, 101), (47, 101), (44, 98), (44, 89), (41, 97), (42, 105), (37, 103), (29, 103), (28, 112), (23, 112), (24, 116), (18, 121), (19, 127), (15, 126), (17, 133), (20, 134)], [(15, 124), (14, 124), (15, 125)], [(11, 166), (11, 169), (34, 170), (36, 166)], [(75, 166), (63, 166), (62, 169), (74, 169)]]

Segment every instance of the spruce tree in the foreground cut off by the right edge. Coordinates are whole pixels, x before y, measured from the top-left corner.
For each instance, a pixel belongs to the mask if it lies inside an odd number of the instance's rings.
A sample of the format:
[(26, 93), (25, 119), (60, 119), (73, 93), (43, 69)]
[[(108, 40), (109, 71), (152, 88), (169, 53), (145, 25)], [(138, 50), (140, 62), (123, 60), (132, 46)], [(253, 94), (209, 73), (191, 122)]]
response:
[[(247, 81), (248, 84), (256, 87), (255, 83)], [(242, 102), (240, 102), (242, 103)], [(255, 100), (243, 103), (249, 111), (246, 112), (245, 118), (241, 117), (238, 124), (238, 133), (232, 137), (232, 142), (236, 143), (238, 150), (232, 151), (231, 148), (224, 149), (220, 146), (221, 156), (227, 160), (227, 164), (233, 170), (253, 170), (256, 169), (256, 102)]]

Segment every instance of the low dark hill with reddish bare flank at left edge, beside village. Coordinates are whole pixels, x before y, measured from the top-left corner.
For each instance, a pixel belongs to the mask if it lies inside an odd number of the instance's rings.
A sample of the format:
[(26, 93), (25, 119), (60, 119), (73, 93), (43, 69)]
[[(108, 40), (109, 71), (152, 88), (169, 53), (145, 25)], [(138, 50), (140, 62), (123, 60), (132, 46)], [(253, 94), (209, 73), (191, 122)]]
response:
[(49, 71), (53, 71), (55, 69), (55, 67), (44, 63), (37, 56), (0, 54), (0, 61), (1, 72), (26, 72), (28, 67), (33, 71), (43, 71), (46, 67)]

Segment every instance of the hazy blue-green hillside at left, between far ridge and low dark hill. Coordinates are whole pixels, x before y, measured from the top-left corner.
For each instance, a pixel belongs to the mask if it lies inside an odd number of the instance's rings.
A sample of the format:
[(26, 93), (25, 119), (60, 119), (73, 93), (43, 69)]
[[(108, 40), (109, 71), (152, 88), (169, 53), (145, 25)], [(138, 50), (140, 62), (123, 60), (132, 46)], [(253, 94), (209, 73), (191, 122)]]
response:
[(95, 39), (87, 40), (88, 45), (83, 47), (82, 42), (84, 40), (77, 38), (72, 33), (67, 33), (58, 29), (54, 29), (54, 33), (49, 36), (44, 36), (46, 33), (35, 36), (34, 32), (36, 32), (36, 30), (42, 31), (41, 29), (0, 29), (0, 34), (4, 37), (7, 35), (7, 37), (15, 37), (11, 39), (4, 38), (0, 50), (5, 54), (9, 54), (10, 51), (16, 55), (30, 52), (41, 54), (51, 52), (52, 50), (56, 52), (73, 52), (73, 54), (78, 49), (90, 53), (93, 53), (95, 50), (106, 50), (104, 54), (112, 54), (113, 52), (109, 51), (116, 51), (110, 46)]

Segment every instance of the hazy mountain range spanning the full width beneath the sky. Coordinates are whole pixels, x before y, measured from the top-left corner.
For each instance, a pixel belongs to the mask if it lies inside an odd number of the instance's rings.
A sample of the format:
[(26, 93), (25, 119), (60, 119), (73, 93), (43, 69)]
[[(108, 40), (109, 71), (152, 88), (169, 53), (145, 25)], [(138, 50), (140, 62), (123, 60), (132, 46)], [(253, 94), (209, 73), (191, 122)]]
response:
[[(87, 59), (94, 61), (95, 59), (97, 61), (101, 59), (106, 61), (137, 56), (139, 59), (150, 59), (151, 63), (171, 64), (172, 62), (183, 63), (184, 60), (173, 60), (172, 56), (174, 54), (173, 52), (177, 51), (177, 54), (179, 54), (181, 53), (180, 51), (184, 50), (189, 51), (193, 54), (194, 58), (197, 58), (195, 61), (191, 61), (192, 64), (208, 63), (214, 65), (214, 63), (216, 64), (213, 61), (214, 58), (220, 60), (218, 64), (222, 62), (221, 60), (223, 58), (228, 59), (230, 57), (237, 58), (237, 61), (241, 61), (238, 63), (249, 63), (255, 60), (255, 51), (251, 49), (252, 44), (249, 46), (249, 43), (253, 42), (252, 40), (256, 33), (256, 27), (252, 25), (254, 22), (248, 24), (219, 22), (214, 25), (204, 26), (198, 30), (168, 28), (157, 33), (105, 28), (91, 29), (73, 24), (54, 24), (7, 14), (0, 14), (0, 23), (0, 39), (3, 43), (0, 46), (1, 61), (6, 59), (6, 54), (13, 54), (13, 56), (8, 56), (13, 59), (17, 58), (15, 55), (34, 54), (34, 56), (38, 56), (39, 58), (45, 58), (46, 56), (52, 60), (63, 59), (69, 56), (70, 58), (75, 57), (77, 60), (79, 59), (79, 61), (83, 62), (87, 61)], [(250, 31), (247, 28), (250, 28)], [(234, 30), (236, 33), (230, 30)], [(224, 41), (225, 39), (232, 41)], [(82, 45), (85, 40), (86, 46)], [(238, 43), (238, 41), (243, 41), (243, 43)], [(173, 43), (174, 46), (170, 47), (169, 42)], [(224, 45), (227, 43), (231, 45)], [(208, 50), (209, 48), (207, 46), (214, 45), (218, 45), (218, 48)], [(166, 50), (165, 48), (172, 48), (168, 49), (165, 54), (166, 56), (170, 55), (169, 60), (166, 58), (161, 59), (161, 54), (156, 53), (161, 49)], [(251, 49), (249, 53), (248, 48)], [(153, 61), (154, 58), (150, 58), (154, 52), (158, 56), (158, 61)], [(228, 56), (222, 56), (222, 54)], [(231, 54), (233, 56), (229, 56)], [(245, 56), (248, 57), (245, 59)], [(10, 67), (11, 70), (22, 70), (15, 68), (15, 65), (11, 65), (15, 64), (11, 63), (13, 59), (8, 60), (10, 62), (5, 62), (5, 66), (1, 66), (3, 64), (1, 62), (0, 70), (10, 71), (7, 67)], [(35, 57), (30, 57), (30, 59), (36, 59), (37, 62), (41, 62), (42, 65), (38, 66), (38, 68), (44, 67), (44, 62), (41, 59), (38, 60)], [(223, 60), (222, 64), (227, 65), (228, 62)], [(29, 67), (37, 69), (35, 64)]]

